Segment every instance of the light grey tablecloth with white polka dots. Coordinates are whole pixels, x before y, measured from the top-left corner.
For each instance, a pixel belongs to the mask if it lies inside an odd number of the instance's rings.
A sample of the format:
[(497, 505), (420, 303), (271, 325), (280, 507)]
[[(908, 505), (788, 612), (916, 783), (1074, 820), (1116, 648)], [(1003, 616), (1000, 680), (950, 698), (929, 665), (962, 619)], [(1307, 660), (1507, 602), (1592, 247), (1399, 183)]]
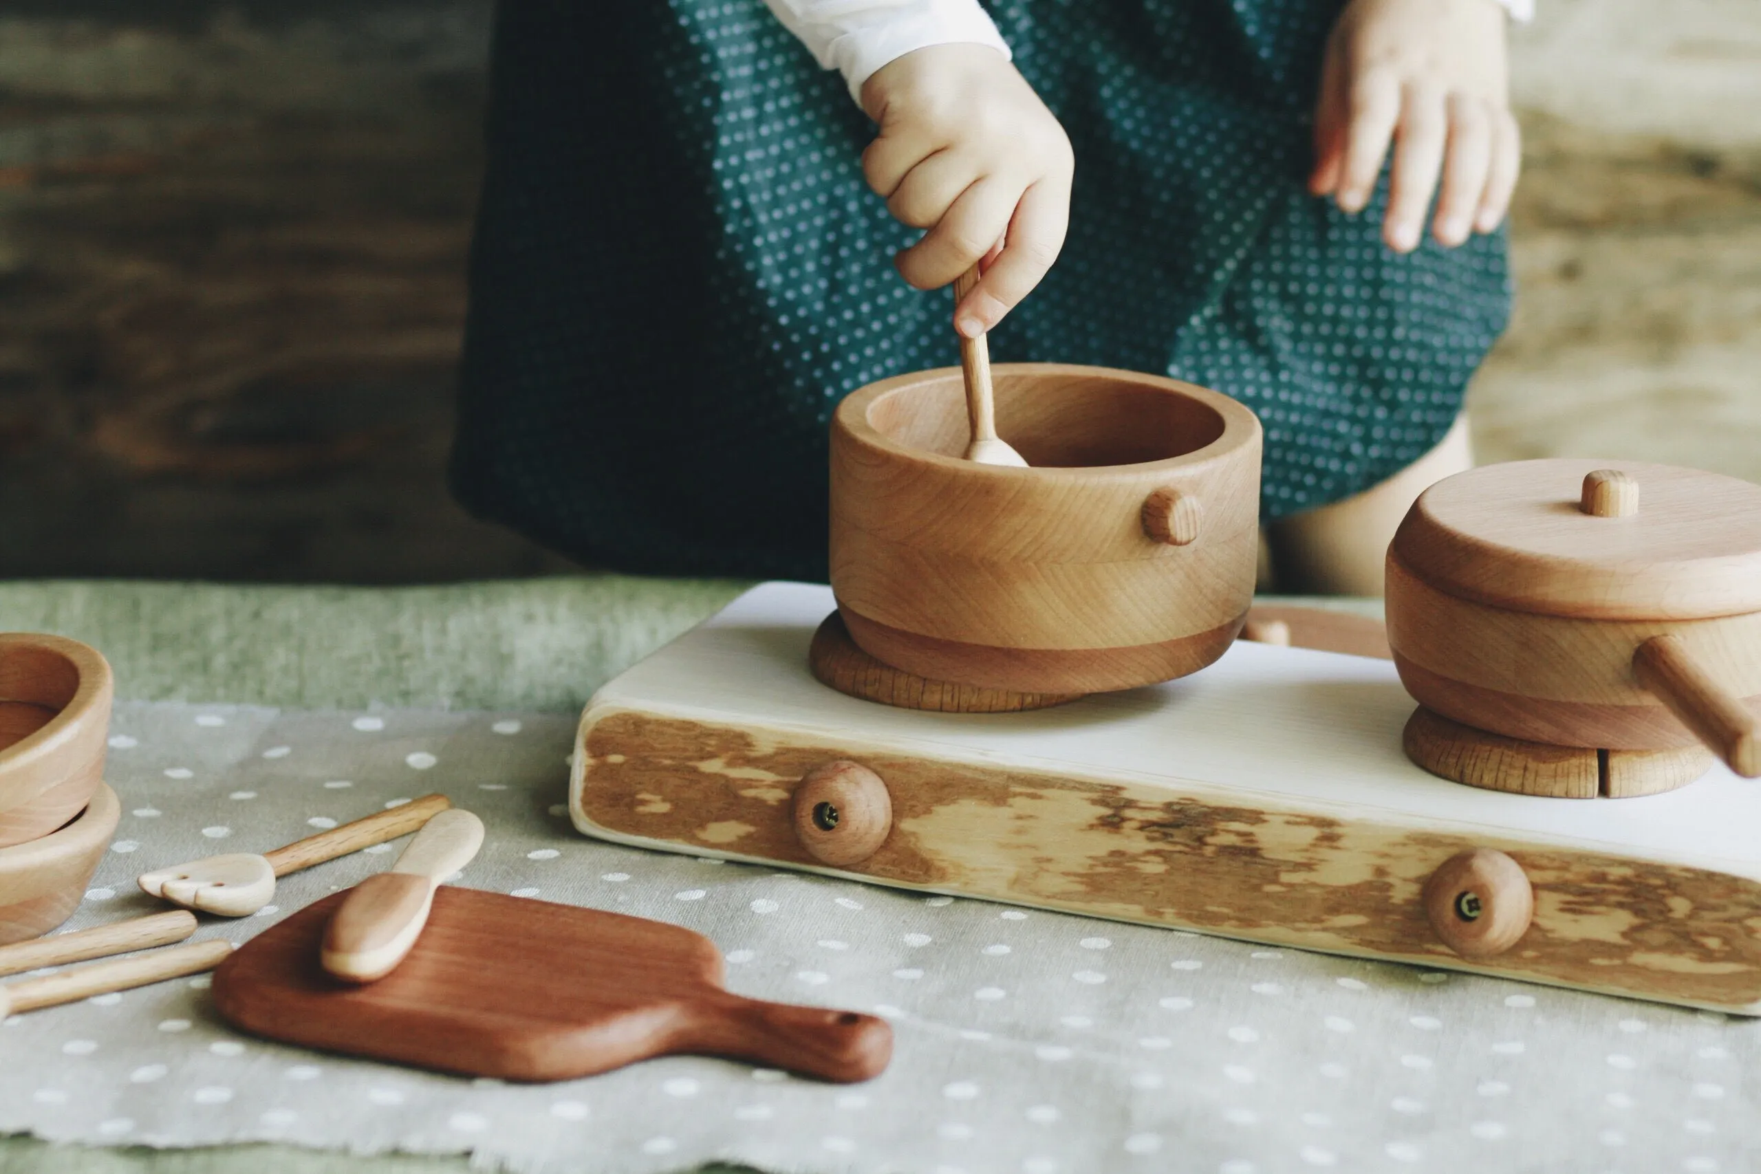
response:
[[(123, 822), (70, 928), (153, 908), (146, 868), (440, 790), (488, 824), (460, 884), (678, 922), (740, 993), (882, 1014), (880, 1079), (696, 1058), (548, 1086), (431, 1075), (238, 1035), (194, 979), (7, 1019), (0, 1130), (593, 1174), (1756, 1165), (1749, 1021), (595, 843), (562, 808), (572, 725), (118, 706)], [(393, 855), (284, 878), (273, 906), (199, 935), (241, 942)]]

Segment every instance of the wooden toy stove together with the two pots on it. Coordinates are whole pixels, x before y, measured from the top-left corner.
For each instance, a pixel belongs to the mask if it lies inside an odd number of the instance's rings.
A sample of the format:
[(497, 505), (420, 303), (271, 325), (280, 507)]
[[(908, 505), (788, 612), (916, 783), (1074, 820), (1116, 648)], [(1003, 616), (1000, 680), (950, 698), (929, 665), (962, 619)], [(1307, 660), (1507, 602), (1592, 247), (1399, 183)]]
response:
[[(606, 685), (579, 831), (1761, 1014), (1761, 486), (1448, 479), (1388, 556), (1391, 660), (1345, 655), (1250, 613), (1247, 408), (1051, 364), (991, 408), (976, 375), (842, 403), (831, 588)], [(986, 437), (1025, 466), (965, 459)]]

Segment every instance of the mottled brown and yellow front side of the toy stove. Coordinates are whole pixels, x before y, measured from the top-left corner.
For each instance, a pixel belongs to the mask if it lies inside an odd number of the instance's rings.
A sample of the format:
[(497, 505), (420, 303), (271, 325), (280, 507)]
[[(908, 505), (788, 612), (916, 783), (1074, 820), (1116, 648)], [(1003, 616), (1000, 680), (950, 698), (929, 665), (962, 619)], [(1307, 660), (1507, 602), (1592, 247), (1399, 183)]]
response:
[[(1710, 868), (627, 709), (590, 711), (579, 745), (578, 822), (613, 840), (814, 868), (789, 824), (792, 787), (815, 762), (849, 757), (893, 796), (893, 834), (854, 869), (866, 880), (1761, 1010), (1761, 884)], [(1421, 891), (1446, 859), (1481, 847), (1522, 864), (1536, 915), (1518, 949), (1465, 963), (1432, 931)]]

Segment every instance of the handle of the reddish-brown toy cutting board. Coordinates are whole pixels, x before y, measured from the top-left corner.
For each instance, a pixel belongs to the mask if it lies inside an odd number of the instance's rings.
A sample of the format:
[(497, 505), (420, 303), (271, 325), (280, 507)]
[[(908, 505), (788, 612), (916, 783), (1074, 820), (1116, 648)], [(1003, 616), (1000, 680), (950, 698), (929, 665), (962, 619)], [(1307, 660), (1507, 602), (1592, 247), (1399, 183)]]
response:
[(880, 1075), (893, 1058), (893, 1026), (877, 1016), (738, 994), (701, 1009), (676, 1040), (678, 1051), (750, 1060), (838, 1082)]

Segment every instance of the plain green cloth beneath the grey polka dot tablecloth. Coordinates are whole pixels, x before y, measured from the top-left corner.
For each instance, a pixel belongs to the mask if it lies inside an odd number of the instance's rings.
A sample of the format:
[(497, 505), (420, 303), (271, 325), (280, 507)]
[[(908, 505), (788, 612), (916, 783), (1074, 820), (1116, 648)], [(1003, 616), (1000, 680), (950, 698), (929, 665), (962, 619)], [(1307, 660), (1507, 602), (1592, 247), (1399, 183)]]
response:
[[(431, 588), (0, 583), (0, 628), (109, 657), (130, 701), (574, 711), (747, 584), (583, 576)], [(1293, 602), (1293, 600), (1280, 600)], [(1375, 614), (1375, 604), (1305, 600)], [(0, 1139), (0, 1174), (463, 1174), (463, 1156)]]

